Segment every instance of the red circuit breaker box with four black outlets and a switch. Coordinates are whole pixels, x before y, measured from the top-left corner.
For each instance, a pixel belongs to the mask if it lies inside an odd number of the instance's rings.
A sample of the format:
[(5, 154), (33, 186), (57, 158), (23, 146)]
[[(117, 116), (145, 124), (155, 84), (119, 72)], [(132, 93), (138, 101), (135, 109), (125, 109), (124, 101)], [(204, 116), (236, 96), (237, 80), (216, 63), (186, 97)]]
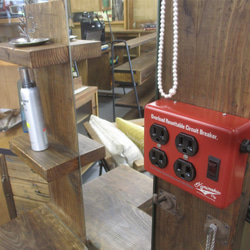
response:
[(147, 171), (219, 208), (240, 197), (248, 119), (167, 99), (148, 104), (144, 117)]

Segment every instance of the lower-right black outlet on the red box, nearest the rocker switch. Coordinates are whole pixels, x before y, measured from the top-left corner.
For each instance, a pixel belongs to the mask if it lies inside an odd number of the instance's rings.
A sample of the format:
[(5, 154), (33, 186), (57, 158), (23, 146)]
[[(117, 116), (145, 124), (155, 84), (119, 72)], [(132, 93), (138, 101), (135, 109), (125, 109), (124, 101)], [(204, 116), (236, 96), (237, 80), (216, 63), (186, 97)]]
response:
[(192, 181), (196, 176), (193, 164), (182, 159), (178, 159), (174, 163), (174, 172), (179, 178), (185, 181)]

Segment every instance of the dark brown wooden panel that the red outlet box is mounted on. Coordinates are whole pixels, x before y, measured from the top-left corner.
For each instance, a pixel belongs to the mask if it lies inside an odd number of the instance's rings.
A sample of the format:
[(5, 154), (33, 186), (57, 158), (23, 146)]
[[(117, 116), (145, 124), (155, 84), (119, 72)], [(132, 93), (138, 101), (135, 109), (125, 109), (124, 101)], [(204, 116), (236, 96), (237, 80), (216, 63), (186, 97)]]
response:
[[(250, 2), (248, 0), (179, 0), (179, 85), (174, 100), (250, 118)], [(166, 1), (164, 90), (172, 86), (172, 1)], [(241, 197), (218, 209), (162, 179), (157, 193), (176, 196), (177, 215), (155, 207), (154, 249), (205, 249), (207, 215), (230, 226), (228, 244), (215, 249), (240, 249), (250, 197), (246, 172)]]

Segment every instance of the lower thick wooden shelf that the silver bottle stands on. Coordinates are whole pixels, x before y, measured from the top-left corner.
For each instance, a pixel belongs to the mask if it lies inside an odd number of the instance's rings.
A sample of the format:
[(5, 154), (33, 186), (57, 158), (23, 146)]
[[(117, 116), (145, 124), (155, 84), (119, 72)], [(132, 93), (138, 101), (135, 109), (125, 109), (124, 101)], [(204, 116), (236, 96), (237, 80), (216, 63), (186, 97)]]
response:
[[(46, 181), (50, 182), (79, 168), (77, 152), (49, 137), (49, 148), (35, 152), (30, 147), (28, 134), (10, 141), (11, 150), (26, 162)], [(80, 162), (86, 165), (104, 157), (104, 146), (85, 137), (78, 136)], [(98, 158), (99, 157), (99, 158)]]

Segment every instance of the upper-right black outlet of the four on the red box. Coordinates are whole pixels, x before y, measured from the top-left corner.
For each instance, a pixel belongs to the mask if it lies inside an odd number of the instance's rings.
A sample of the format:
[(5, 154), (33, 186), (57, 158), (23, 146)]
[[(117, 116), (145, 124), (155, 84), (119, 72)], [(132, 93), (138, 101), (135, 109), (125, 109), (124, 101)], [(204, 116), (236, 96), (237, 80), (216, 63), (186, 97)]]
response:
[(194, 156), (198, 152), (198, 143), (194, 136), (180, 133), (175, 138), (175, 146), (180, 153)]

